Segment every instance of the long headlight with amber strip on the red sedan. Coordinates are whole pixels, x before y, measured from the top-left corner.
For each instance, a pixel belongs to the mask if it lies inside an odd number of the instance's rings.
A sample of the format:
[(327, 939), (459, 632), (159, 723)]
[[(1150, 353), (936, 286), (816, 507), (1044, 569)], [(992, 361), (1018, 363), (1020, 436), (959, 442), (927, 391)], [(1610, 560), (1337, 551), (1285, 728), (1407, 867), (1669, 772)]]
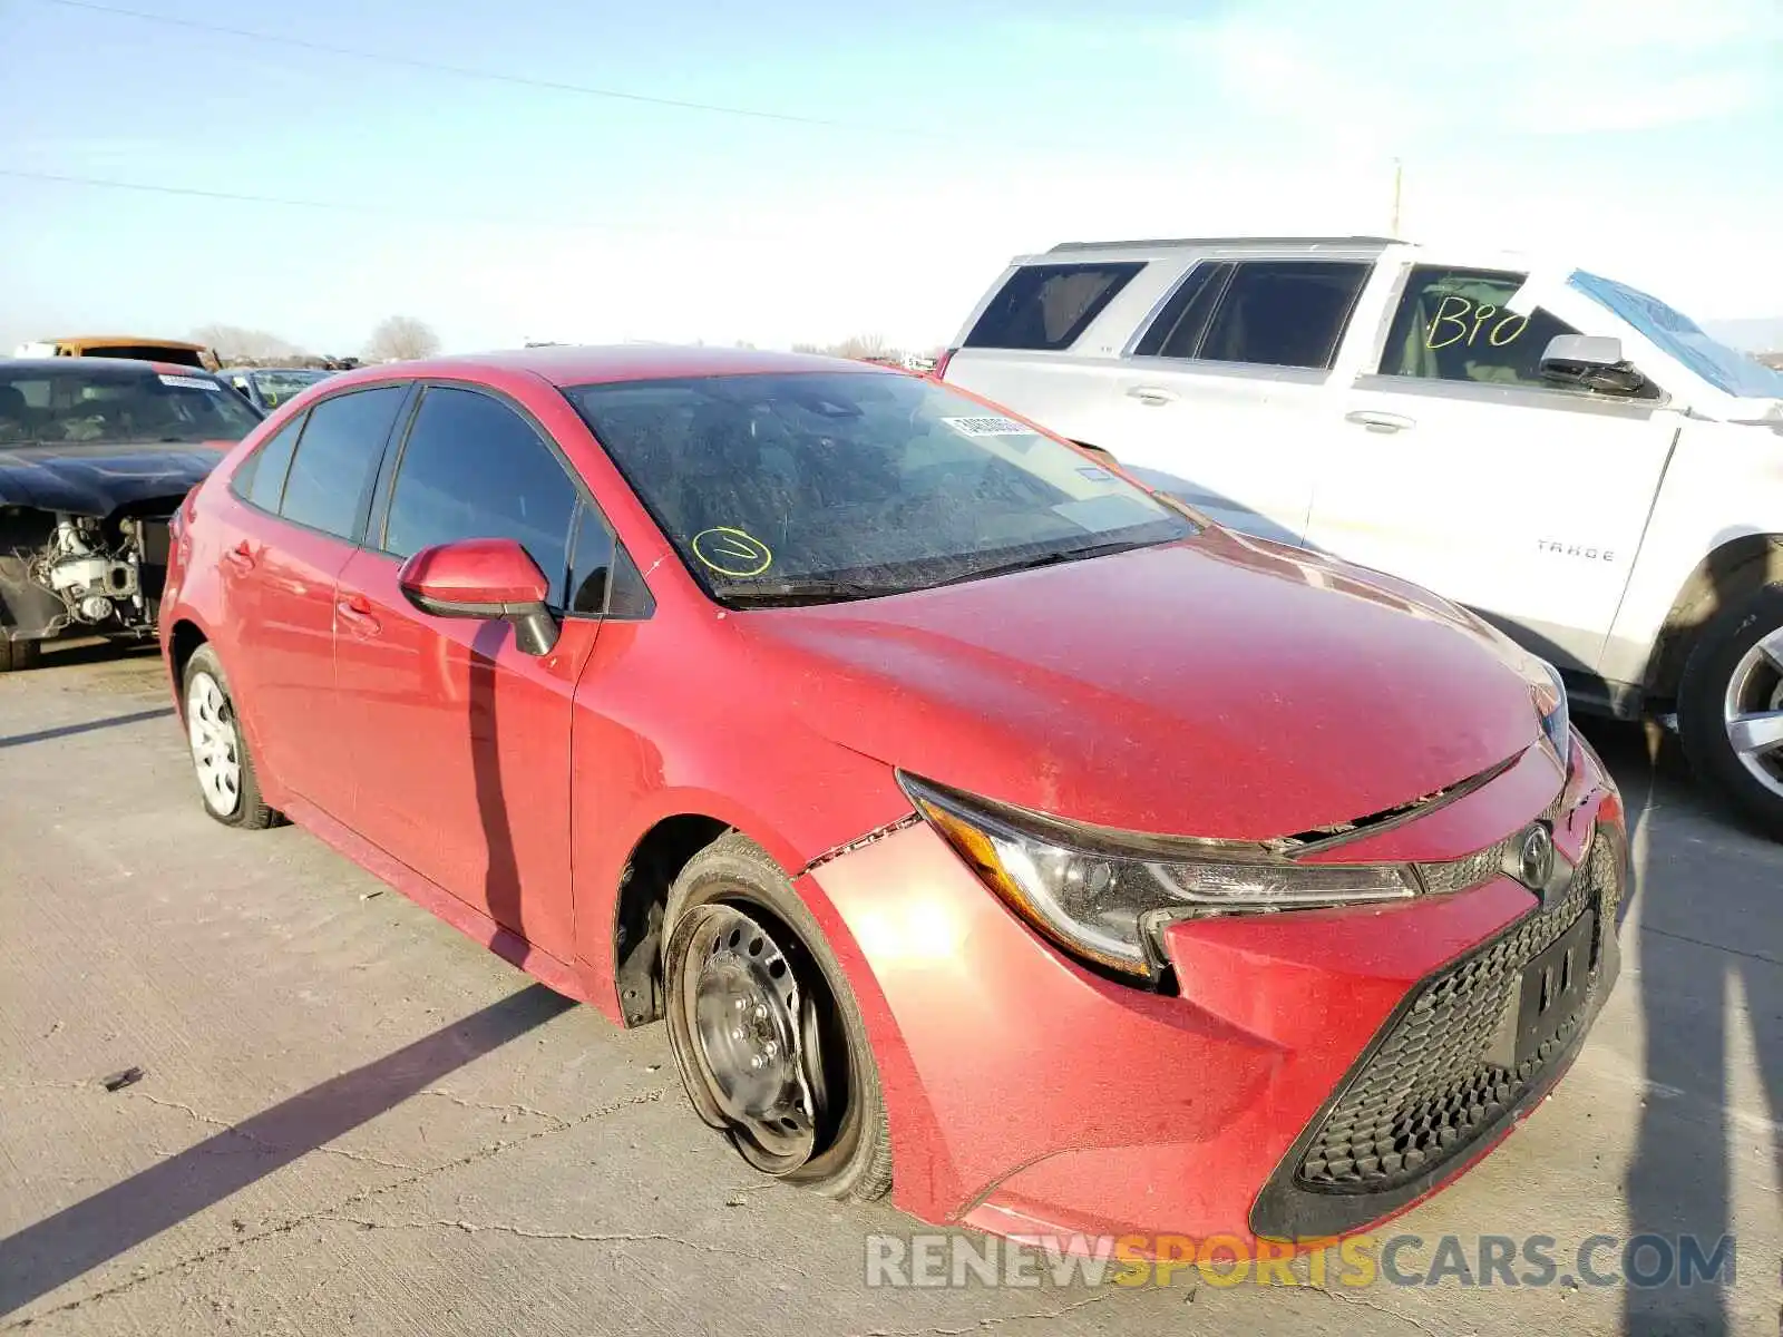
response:
[(1168, 920), (1419, 893), (1410, 868), (1296, 865), (1266, 845), (1080, 827), (899, 775), (927, 822), (1011, 909), (1068, 952), (1152, 979)]

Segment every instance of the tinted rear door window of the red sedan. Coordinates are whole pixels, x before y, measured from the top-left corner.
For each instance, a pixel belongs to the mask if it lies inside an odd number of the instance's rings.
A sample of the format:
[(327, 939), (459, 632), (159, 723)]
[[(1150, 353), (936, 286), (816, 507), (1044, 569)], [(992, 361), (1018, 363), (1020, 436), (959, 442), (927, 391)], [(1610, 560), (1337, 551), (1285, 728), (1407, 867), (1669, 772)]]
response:
[(346, 390), (308, 412), (278, 513), (335, 538), (358, 538), (360, 512), (407, 385)]

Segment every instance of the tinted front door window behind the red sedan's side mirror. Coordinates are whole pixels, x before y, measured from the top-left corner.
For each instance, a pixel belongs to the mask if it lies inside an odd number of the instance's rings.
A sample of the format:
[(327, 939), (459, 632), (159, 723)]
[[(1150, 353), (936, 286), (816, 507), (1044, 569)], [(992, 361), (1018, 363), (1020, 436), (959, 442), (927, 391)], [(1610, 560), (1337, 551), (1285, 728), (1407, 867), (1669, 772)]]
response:
[(556, 453), (508, 405), (431, 385), (396, 469), (383, 551), (407, 558), (458, 538), (514, 538), (551, 581), (547, 603), (562, 610), (578, 501)]

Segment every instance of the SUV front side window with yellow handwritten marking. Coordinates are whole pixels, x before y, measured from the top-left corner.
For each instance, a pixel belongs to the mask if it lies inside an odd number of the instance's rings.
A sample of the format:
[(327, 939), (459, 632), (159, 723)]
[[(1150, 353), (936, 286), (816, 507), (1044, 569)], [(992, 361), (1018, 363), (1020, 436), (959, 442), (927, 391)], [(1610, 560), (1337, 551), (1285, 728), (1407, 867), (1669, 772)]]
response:
[(1505, 303), (1523, 280), (1498, 269), (1414, 266), (1380, 353), (1380, 374), (1555, 389), (1542, 380), (1542, 351), (1555, 335), (1578, 330), (1541, 307), (1508, 310)]

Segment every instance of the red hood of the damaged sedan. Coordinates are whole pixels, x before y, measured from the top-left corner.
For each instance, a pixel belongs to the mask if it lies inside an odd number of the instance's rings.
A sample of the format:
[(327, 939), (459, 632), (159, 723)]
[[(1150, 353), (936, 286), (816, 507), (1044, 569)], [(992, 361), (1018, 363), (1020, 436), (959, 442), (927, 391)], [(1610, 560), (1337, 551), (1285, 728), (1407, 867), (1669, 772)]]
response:
[(801, 726), (1125, 831), (1300, 834), (1432, 795), (1541, 734), (1539, 670), (1471, 615), (1218, 528), (736, 620)]

